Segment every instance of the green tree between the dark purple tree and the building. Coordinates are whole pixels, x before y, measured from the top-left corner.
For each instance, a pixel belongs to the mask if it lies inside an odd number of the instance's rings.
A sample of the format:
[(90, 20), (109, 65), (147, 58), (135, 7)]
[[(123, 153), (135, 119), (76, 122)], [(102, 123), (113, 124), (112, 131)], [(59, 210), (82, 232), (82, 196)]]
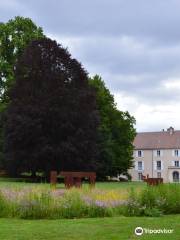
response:
[(101, 77), (96, 75), (89, 79), (89, 83), (96, 89), (100, 112), (98, 147), (101, 164), (98, 175), (126, 174), (132, 166), (135, 119), (128, 112), (117, 109), (114, 97)]

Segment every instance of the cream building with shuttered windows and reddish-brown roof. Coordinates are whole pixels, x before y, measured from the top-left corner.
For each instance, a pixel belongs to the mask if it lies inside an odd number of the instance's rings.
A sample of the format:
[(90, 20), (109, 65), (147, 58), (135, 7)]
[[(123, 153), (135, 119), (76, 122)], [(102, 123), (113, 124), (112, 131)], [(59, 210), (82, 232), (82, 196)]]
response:
[(134, 167), (129, 170), (132, 181), (143, 175), (163, 178), (164, 182), (180, 182), (180, 131), (138, 133), (134, 140)]

